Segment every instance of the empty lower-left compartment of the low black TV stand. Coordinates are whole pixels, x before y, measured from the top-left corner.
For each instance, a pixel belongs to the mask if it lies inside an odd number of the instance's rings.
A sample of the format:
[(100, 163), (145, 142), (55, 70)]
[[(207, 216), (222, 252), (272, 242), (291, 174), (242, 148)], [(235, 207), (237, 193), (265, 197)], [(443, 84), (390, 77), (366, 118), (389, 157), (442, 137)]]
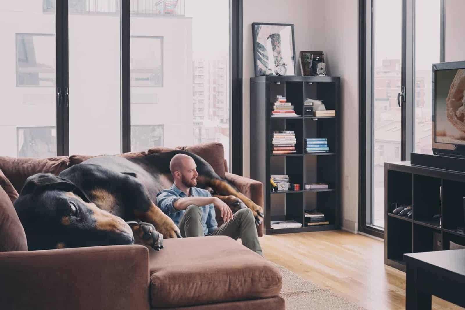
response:
[(412, 221), (400, 220), (397, 215), (387, 217), (387, 259), (404, 260), (405, 253), (412, 253)]

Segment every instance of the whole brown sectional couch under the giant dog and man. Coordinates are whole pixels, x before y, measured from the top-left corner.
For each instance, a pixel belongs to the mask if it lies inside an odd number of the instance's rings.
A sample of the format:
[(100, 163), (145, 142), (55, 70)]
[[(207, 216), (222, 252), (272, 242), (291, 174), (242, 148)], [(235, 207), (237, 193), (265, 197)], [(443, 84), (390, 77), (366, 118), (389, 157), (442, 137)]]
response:
[[(260, 182), (226, 172), (221, 144), (177, 149), (202, 156), (220, 176), (263, 205)], [(17, 192), (30, 175), (59, 174), (88, 157), (0, 156), (1, 309), (285, 309), (279, 271), (229, 237), (166, 239), (159, 252), (142, 245), (28, 252), (12, 204)]]

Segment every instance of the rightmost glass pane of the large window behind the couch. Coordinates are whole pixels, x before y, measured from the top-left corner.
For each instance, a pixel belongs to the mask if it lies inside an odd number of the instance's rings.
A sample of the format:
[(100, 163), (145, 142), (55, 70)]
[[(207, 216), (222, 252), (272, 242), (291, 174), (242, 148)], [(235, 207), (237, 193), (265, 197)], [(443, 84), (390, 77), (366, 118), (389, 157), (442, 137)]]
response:
[(229, 160), (229, 1), (155, 2), (131, 2), (131, 149), (220, 142)]

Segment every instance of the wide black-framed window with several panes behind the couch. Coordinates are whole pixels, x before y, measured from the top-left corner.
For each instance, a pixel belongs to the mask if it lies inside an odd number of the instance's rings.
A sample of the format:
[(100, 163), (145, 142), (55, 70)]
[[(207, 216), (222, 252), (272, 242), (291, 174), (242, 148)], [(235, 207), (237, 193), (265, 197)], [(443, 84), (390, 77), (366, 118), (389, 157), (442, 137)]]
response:
[(0, 108), (8, 111), (0, 115), (0, 155), (220, 142), (229, 161), (230, 102), (237, 102), (231, 154), (240, 174), (241, 3), (7, 1), (0, 7)]

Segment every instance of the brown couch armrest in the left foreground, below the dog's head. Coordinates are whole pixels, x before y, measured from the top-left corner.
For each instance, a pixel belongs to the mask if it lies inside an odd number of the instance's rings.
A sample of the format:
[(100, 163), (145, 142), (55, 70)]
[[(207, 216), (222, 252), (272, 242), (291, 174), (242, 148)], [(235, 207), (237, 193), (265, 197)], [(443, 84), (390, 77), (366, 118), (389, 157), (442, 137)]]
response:
[(143, 245), (0, 252), (1, 309), (148, 310)]

